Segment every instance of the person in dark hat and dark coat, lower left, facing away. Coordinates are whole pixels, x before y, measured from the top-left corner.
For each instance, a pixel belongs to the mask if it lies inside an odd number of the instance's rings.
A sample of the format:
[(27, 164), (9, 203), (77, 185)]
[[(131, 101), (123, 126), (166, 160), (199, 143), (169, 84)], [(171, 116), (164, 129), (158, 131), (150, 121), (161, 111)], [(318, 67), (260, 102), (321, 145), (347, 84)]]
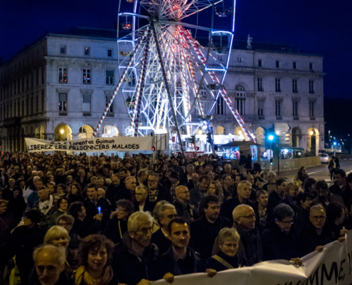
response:
[(46, 232), (38, 227), (41, 222), (41, 212), (28, 210), (23, 217), (23, 226), (16, 227), (11, 234), (9, 259), (16, 256), (16, 265), (21, 278), (21, 284), (26, 285), (34, 266), (33, 251), (43, 244)]

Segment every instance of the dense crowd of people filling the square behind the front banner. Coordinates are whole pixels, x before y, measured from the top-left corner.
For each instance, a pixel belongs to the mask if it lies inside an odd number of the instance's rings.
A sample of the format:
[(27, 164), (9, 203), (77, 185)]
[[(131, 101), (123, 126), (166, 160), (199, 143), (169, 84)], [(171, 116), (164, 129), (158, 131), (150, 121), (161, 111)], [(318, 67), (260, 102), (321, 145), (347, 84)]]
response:
[(306, 167), (288, 183), (213, 155), (7, 153), (0, 167), (0, 272), (16, 285), (148, 285), (274, 259), (299, 266), (352, 228), (352, 174), (341, 169), (329, 187)]

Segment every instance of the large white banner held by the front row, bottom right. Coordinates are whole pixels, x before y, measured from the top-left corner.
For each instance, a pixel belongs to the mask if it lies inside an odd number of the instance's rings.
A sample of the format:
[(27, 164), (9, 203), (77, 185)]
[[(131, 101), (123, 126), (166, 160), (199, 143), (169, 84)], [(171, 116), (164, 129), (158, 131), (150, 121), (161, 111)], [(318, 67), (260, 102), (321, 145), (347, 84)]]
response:
[[(287, 244), (289, 247), (290, 244)], [(330, 285), (352, 284), (352, 230), (344, 242), (331, 242), (323, 252), (302, 257), (302, 266), (288, 260), (265, 261), (254, 266), (218, 272), (213, 278), (205, 273), (176, 276), (173, 285)], [(164, 280), (152, 285), (170, 285)]]

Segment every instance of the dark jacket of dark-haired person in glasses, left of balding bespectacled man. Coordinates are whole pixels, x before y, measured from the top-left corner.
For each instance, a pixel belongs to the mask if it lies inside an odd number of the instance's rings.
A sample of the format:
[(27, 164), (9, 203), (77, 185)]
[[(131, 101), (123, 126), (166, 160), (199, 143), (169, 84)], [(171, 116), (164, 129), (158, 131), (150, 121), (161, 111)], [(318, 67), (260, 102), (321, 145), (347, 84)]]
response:
[(293, 228), (283, 232), (276, 222), (270, 222), (262, 233), (263, 260), (292, 259), (295, 256)]

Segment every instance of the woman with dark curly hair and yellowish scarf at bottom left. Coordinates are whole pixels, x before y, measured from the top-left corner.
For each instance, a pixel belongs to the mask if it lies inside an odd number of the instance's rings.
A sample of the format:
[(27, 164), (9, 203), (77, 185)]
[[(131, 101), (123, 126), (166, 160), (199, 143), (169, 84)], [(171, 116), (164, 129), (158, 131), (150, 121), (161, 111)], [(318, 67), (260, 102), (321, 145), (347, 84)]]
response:
[(75, 285), (117, 285), (110, 265), (114, 244), (101, 234), (82, 239), (78, 253), (80, 266), (74, 272)]

